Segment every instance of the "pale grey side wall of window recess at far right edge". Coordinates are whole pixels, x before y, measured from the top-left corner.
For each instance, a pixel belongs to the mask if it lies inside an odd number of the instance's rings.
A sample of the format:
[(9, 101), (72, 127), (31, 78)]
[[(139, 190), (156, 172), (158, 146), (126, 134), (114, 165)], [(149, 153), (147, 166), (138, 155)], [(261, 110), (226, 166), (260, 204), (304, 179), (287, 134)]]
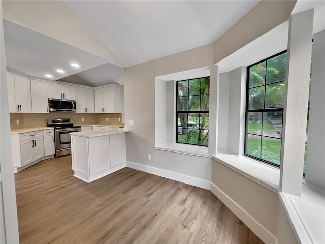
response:
[(309, 130), (306, 162), (308, 183), (325, 188), (325, 30), (314, 34)]

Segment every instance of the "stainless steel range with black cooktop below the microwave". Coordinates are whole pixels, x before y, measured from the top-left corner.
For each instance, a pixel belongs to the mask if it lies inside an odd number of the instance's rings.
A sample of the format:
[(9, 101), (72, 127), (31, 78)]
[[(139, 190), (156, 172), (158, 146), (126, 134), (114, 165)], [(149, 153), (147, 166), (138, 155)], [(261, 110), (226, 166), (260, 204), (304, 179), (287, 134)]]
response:
[(72, 118), (47, 119), (47, 126), (54, 127), (55, 157), (71, 154), (70, 132), (81, 131), (73, 125)]

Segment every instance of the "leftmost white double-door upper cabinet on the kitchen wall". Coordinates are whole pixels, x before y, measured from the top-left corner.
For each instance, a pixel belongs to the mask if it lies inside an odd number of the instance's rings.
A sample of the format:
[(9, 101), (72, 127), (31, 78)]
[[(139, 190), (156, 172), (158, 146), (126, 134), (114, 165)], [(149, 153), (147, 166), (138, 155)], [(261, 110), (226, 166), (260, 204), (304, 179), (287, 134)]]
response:
[(7, 72), (7, 87), (10, 113), (31, 113), (30, 80)]

